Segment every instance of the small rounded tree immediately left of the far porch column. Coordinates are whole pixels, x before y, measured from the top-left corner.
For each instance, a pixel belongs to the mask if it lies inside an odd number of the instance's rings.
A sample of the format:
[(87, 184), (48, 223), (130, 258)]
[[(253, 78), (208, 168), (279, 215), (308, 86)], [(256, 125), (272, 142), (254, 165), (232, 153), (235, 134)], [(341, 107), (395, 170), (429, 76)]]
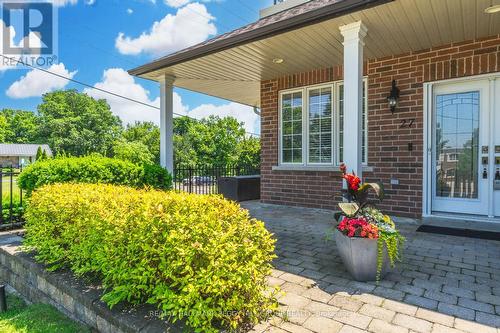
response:
[(160, 128), (157, 125), (152, 122), (129, 124), (122, 136), (127, 142), (142, 143), (153, 156), (152, 161), (160, 163)]

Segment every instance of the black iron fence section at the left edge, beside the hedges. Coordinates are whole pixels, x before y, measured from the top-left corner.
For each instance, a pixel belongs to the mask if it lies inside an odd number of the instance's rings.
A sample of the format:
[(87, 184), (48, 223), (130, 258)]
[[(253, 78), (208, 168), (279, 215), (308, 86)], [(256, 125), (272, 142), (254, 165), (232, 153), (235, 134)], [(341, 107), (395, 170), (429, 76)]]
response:
[(23, 220), (23, 191), (17, 186), (20, 169), (0, 166), (0, 229), (20, 225)]

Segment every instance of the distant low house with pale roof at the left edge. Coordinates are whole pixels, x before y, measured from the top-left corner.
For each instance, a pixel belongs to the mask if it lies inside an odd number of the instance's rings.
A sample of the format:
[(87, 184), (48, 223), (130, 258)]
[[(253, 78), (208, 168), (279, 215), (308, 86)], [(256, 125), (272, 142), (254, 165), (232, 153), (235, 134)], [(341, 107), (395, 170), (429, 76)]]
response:
[(0, 143), (0, 166), (15, 167), (28, 165), (36, 160), (38, 147), (52, 156), (52, 150), (48, 145), (25, 144), (25, 143)]

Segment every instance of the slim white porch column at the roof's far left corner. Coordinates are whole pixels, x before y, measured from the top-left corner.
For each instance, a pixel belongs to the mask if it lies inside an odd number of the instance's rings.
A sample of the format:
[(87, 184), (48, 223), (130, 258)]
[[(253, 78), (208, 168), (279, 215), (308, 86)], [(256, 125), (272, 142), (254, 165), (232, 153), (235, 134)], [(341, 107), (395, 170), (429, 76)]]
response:
[(160, 164), (174, 171), (174, 80), (165, 76), (160, 80)]

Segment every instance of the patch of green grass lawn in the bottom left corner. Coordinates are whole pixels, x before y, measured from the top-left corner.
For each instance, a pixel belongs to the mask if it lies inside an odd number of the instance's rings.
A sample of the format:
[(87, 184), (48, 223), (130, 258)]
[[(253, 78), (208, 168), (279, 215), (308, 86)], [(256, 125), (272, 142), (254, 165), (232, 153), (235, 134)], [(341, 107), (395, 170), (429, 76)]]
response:
[(7, 295), (7, 309), (7, 312), (0, 313), (2, 333), (90, 333), (90, 329), (50, 305), (26, 305), (21, 298)]

